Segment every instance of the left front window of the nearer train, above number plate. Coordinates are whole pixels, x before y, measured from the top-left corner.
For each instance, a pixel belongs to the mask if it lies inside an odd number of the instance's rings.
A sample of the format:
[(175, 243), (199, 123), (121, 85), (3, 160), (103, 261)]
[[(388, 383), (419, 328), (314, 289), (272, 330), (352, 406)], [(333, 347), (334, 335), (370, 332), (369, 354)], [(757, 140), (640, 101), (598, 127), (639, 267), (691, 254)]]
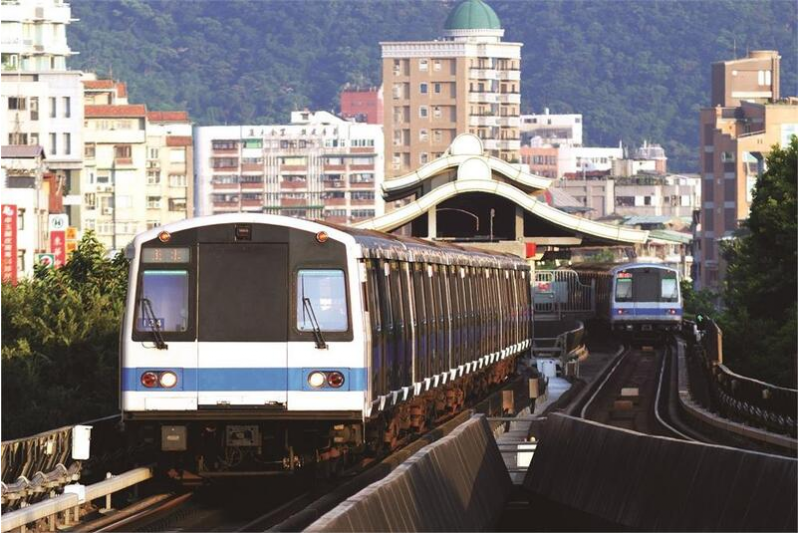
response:
[(189, 328), (189, 271), (145, 270), (141, 279), (136, 330), (186, 331)]

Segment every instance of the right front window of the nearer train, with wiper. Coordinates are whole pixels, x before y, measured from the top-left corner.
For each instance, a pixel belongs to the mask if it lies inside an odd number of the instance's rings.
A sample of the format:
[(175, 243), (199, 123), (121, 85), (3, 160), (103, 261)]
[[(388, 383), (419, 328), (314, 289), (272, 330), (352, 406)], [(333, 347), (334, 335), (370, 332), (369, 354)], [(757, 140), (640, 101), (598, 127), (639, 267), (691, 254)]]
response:
[(297, 329), (347, 331), (347, 295), (341, 270), (300, 270), (297, 273)]

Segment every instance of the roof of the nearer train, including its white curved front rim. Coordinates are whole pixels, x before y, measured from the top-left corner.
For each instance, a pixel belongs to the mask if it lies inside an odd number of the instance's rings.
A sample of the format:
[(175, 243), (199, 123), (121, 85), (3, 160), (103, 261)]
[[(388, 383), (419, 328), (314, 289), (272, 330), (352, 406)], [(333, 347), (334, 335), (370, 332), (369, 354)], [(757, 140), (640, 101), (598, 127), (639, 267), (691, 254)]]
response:
[(262, 213), (227, 213), (195, 217), (173, 222), (162, 227), (140, 233), (131, 243), (128, 256), (133, 248), (143, 242), (158, 238), (161, 231), (178, 232), (187, 229), (216, 224), (268, 224), (296, 228), (303, 231), (322, 231), (326, 228), (335, 240), (352, 239), (351, 244), (360, 248), (364, 257), (392, 259), (399, 261), (420, 261), (437, 264), (480, 266), (489, 268), (510, 268), (527, 270), (527, 261), (519, 256), (503, 252), (490, 252), (473, 246), (462, 246), (450, 242), (427, 241), (416, 237), (406, 237), (382, 233), (380, 231), (358, 229), (320, 220), (307, 220), (282, 215)]

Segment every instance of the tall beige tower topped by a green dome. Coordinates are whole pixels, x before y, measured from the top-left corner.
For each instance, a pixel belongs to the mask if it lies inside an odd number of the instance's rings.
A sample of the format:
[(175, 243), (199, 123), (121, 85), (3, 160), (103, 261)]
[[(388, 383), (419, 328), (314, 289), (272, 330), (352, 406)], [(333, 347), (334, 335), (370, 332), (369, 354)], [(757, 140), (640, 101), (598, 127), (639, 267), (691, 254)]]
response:
[(450, 12), (441, 39), (383, 42), (387, 178), (442, 155), (460, 133), (489, 155), (519, 160), (521, 43), (482, 0)]

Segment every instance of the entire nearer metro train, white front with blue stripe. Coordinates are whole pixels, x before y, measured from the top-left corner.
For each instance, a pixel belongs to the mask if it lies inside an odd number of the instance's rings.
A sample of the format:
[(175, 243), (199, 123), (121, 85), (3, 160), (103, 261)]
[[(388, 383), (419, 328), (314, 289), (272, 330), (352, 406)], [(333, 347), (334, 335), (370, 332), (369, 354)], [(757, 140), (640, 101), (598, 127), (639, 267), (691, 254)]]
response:
[(138, 235), (125, 432), (213, 477), (377, 455), (504, 382), (532, 345), (510, 254), (266, 214)]

